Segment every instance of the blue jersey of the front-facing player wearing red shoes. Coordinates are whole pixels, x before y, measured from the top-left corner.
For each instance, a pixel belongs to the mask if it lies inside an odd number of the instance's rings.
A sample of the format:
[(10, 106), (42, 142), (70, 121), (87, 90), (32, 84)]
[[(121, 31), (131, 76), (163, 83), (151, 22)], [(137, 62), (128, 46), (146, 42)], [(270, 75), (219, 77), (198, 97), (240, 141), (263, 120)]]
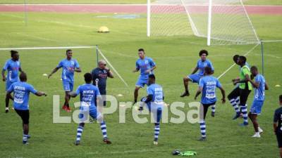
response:
[(57, 68), (63, 68), (62, 71), (62, 76), (61, 78), (63, 79), (63, 81), (71, 81), (73, 82), (73, 75), (75, 72), (75, 68), (79, 68), (79, 64), (78, 61), (71, 59), (64, 59), (61, 60), (61, 62), (59, 62), (59, 65), (57, 66)]

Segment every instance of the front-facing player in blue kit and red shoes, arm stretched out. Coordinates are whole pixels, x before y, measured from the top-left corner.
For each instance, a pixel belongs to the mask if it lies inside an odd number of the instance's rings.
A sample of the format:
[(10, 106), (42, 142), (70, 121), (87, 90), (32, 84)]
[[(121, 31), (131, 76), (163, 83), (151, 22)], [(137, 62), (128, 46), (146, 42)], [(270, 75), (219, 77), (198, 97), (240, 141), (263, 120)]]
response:
[(71, 96), (68, 95), (68, 92), (73, 91), (73, 76), (74, 72), (81, 72), (78, 61), (73, 59), (73, 51), (68, 49), (66, 51), (66, 59), (61, 60), (59, 65), (54, 68), (54, 70), (49, 74), (48, 79), (57, 72), (61, 67), (63, 68), (61, 79), (63, 81), (63, 89), (65, 91), (65, 103), (63, 103), (63, 110), (67, 112), (71, 112), (71, 107), (69, 105), (69, 101), (71, 100)]

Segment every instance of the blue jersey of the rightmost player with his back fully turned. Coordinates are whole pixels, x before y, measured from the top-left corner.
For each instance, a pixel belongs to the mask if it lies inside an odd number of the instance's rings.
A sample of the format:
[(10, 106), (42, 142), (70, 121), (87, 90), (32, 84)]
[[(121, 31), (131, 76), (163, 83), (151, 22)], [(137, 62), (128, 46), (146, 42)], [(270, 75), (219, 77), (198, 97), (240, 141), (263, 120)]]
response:
[(219, 79), (212, 76), (204, 76), (200, 79), (199, 86), (202, 88), (202, 104), (212, 104), (216, 102), (216, 87), (220, 88)]

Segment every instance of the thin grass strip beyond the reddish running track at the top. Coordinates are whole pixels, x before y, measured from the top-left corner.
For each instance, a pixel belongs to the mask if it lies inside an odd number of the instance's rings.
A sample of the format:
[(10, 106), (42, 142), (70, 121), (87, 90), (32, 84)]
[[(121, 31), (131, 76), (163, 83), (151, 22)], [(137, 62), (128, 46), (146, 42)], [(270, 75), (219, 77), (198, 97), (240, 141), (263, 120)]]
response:
[[(153, 0), (152, 0), (153, 1)], [(27, 0), (27, 4), (146, 4), (146, 0)], [(24, 4), (23, 0), (1, 0), (0, 4)], [(282, 5), (281, 0), (245, 0), (249, 5)]]

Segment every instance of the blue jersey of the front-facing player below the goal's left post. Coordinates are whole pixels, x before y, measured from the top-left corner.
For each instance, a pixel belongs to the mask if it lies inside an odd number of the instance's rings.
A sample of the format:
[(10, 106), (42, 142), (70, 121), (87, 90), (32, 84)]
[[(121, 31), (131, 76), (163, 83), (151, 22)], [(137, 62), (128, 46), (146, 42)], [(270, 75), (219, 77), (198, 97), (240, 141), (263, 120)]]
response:
[(152, 58), (145, 57), (143, 60), (138, 59), (136, 61), (136, 70), (140, 70), (140, 79), (148, 79), (149, 73), (146, 71), (152, 69), (154, 66), (156, 66), (156, 63)]

